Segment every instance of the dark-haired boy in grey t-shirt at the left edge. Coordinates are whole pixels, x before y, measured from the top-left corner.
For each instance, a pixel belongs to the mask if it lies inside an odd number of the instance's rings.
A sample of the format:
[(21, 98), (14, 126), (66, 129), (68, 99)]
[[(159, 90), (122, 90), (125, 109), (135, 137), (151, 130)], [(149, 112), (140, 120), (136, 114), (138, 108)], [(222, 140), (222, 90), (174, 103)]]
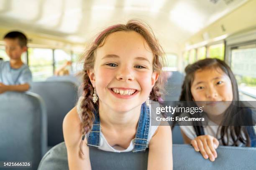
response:
[(0, 94), (6, 91), (27, 91), (32, 82), (32, 74), (21, 61), (22, 53), (27, 51), (27, 37), (22, 32), (13, 31), (3, 39), (10, 61), (0, 62)]

